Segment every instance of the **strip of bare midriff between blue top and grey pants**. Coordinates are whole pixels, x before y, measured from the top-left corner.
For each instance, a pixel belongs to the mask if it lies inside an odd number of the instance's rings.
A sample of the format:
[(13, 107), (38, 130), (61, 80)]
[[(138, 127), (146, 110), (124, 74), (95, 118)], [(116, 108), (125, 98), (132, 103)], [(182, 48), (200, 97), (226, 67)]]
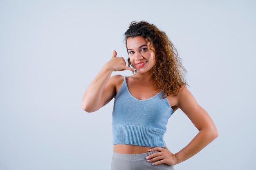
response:
[(127, 145), (127, 144), (116, 144), (113, 145), (114, 152), (122, 154), (140, 154), (147, 153), (149, 149), (154, 147), (148, 146), (137, 146), (137, 145)]

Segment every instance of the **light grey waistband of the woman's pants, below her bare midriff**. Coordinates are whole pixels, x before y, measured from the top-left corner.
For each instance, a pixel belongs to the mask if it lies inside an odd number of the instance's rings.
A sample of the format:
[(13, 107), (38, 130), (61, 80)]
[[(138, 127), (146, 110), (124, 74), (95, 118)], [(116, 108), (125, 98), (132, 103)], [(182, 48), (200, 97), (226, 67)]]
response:
[(128, 159), (128, 160), (146, 159), (148, 155), (151, 155), (155, 152), (159, 152), (159, 151), (155, 150), (152, 152), (139, 153), (139, 154), (123, 154), (123, 153), (117, 153), (113, 151), (112, 157), (119, 158), (119, 159)]

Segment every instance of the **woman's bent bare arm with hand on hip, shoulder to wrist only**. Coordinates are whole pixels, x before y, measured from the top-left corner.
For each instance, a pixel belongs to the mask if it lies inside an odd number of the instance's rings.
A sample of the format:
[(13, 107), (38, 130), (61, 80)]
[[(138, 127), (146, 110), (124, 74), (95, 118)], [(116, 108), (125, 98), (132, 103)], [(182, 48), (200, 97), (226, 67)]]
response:
[(209, 114), (196, 102), (190, 91), (183, 87), (177, 95), (179, 108), (199, 130), (192, 141), (175, 153), (177, 163), (189, 159), (218, 137), (218, 131)]

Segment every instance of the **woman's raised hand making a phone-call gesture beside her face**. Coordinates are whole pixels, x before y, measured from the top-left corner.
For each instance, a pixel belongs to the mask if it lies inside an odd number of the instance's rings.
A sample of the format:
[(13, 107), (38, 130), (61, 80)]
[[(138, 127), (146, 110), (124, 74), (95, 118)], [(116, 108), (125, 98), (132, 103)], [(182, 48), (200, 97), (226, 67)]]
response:
[(117, 51), (113, 50), (113, 55), (109, 62), (107, 62), (108, 66), (112, 71), (124, 71), (130, 70), (135, 71), (135, 68), (131, 68), (126, 66), (126, 62), (123, 57), (117, 57)]

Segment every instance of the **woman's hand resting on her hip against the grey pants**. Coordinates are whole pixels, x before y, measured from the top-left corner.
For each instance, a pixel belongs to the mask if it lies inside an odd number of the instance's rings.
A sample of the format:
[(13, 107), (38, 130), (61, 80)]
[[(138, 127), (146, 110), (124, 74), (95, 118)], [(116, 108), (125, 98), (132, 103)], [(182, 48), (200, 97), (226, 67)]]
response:
[(158, 150), (160, 152), (155, 152), (155, 153), (149, 155), (148, 157), (146, 157), (146, 159), (148, 159), (147, 160), (148, 162), (160, 160), (160, 161), (154, 162), (152, 165), (159, 165), (161, 163), (167, 163), (168, 165), (172, 166), (172, 165), (177, 164), (176, 155), (173, 154), (172, 152), (170, 152), (170, 150), (168, 150), (167, 146), (165, 146), (164, 148), (155, 147), (148, 151), (153, 152), (155, 150)]

